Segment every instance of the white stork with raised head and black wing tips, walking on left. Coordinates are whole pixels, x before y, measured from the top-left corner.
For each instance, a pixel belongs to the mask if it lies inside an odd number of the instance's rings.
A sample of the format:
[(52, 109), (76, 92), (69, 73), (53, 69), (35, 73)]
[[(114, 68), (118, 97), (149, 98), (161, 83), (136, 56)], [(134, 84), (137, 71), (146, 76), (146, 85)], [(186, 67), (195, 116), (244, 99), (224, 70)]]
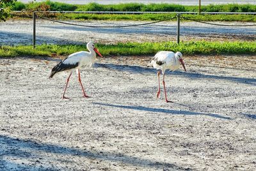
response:
[(83, 96), (85, 98), (89, 97), (84, 92), (84, 87), (83, 87), (82, 82), (81, 82), (80, 70), (79, 69), (81, 68), (81, 66), (90, 66), (90, 67), (92, 67), (92, 65), (95, 63), (96, 53), (99, 54), (100, 57), (102, 57), (102, 55), (100, 54), (99, 50), (97, 50), (97, 48), (95, 48), (92, 41), (87, 43), (86, 47), (88, 48), (89, 52), (81, 51), (81, 52), (76, 52), (74, 54), (71, 54), (70, 56), (63, 59), (59, 64), (57, 64), (56, 66), (54, 66), (52, 68), (51, 75), (50, 75), (49, 78), (52, 78), (53, 75), (55, 75), (56, 73), (58, 73), (60, 71), (70, 71), (70, 75), (67, 78), (67, 83), (66, 83), (66, 86), (65, 86), (65, 90), (64, 90), (63, 95), (62, 95), (63, 99), (67, 99), (65, 97), (65, 92), (67, 90), (69, 78), (71, 77), (74, 70), (77, 71), (78, 81), (81, 84), (82, 91), (83, 91)]

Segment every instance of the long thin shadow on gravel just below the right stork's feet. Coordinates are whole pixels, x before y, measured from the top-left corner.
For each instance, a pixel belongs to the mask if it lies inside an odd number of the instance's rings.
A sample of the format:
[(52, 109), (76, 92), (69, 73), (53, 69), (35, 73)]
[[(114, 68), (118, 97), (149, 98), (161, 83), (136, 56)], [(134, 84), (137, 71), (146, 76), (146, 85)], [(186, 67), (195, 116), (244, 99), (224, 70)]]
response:
[(151, 107), (129, 106), (129, 105), (113, 105), (108, 103), (97, 103), (97, 102), (93, 102), (93, 104), (107, 106), (107, 107), (125, 108), (125, 109), (131, 109), (131, 110), (143, 110), (147, 112), (158, 112), (158, 113), (173, 114), (173, 115), (206, 115), (206, 116), (216, 117), (219, 119), (231, 119), (230, 117), (225, 117), (218, 114), (211, 114), (211, 113), (206, 114), (206, 113), (191, 112), (191, 111), (185, 111), (185, 110), (171, 110), (166, 108), (151, 108)]

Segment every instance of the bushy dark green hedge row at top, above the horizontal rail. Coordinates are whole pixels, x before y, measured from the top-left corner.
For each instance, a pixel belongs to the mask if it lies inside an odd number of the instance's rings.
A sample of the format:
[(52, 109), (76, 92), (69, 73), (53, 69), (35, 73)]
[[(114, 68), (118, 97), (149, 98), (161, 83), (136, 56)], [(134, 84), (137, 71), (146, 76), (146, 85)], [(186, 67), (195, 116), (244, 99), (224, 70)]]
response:
[[(21, 8), (22, 6), (22, 8)], [(120, 4), (97, 4), (89, 3), (83, 5), (65, 4), (52, 1), (34, 2), (24, 4), (19, 1), (12, 6), (13, 10), (38, 10), (40, 7), (52, 11), (198, 11), (198, 6), (183, 6), (180, 4), (142, 4), (142, 3), (120, 3)], [(253, 4), (209, 4), (201, 7), (206, 12), (256, 12)]]

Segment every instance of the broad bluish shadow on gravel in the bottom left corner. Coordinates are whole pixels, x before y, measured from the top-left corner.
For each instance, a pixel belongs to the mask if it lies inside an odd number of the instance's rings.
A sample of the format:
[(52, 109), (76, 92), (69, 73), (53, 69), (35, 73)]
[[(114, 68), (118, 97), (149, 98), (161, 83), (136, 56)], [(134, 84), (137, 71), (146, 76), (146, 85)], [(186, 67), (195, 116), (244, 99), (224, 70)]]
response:
[[(178, 170), (185, 170), (184, 168), (178, 167), (173, 163), (137, 158), (136, 156), (128, 156), (120, 152), (92, 152), (88, 150), (77, 149), (75, 147), (63, 147), (61, 145), (38, 143), (33, 140), (23, 140), (6, 135), (0, 135), (0, 144), (0, 170), (1, 168), (8, 167), (10, 165), (11, 167), (18, 170), (59, 170), (58, 168), (50, 167), (49, 163), (52, 163), (53, 154), (60, 154), (61, 156), (64, 155), (67, 156), (67, 158), (79, 156), (88, 158), (88, 160), (104, 160), (116, 163), (125, 163), (127, 165), (145, 167), (148, 169), (175, 168)], [(49, 158), (44, 156), (45, 152), (49, 155)], [(29, 160), (33, 163), (33, 165), (31, 165), (31, 163), (26, 165), (26, 161), (21, 165), (18, 162), (9, 161), (8, 159), (10, 158)], [(74, 162), (72, 160), (68, 160), (67, 158), (65, 158), (66, 162)], [(58, 158), (58, 161), (60, 160), (61, 159)], [(45, 165), (42, 165), (42, 163), (45, 163)], [(62, 164), (65, 165), (65, 163)], [(78, 165), (79, 163), (76, 164)], [(38, 168), (39, 166), (40, 168)]]

